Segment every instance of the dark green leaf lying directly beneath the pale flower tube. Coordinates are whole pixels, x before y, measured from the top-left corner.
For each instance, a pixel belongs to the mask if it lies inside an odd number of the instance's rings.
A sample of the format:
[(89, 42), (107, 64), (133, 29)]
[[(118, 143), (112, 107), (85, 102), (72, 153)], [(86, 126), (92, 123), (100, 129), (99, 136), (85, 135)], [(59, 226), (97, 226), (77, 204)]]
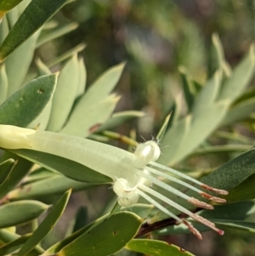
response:
[(103, 174), (99, 174), (98, 172), (95, 172), (94, 170), (87, 168), (78, 162), (74, 162), (60, 156), (30, 150), (15, 150), (13, 152), (31, 162), (40, 164), (44, 168), (64, 174), (70, 179), (94, 184), (105, 184), (112, 182), (111, 178)]

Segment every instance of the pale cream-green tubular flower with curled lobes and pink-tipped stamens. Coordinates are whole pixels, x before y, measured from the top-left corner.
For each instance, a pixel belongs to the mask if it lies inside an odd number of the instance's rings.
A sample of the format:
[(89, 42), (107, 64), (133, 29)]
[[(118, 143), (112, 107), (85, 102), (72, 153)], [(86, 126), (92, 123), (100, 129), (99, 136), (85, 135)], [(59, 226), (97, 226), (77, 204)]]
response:
[[(161, 189), (171, 192), (181, 197), (198, 208), (213, 209), (212, 205), (207, 202), (190, 197), (181, 191), (167, 185), (158, 177), (171, 180), (185, 188), (197, 192), (199, 196), (207, 200), (223, 203), (224, 199), (212, 196), (197, 187), (184, 182), (183, 179), (189, 180), (201, 189), (212, 191), (220, 195), (228, 194), (227, 191), (218, 190), (208, 185), (202, 184), (196, 179), (190, 178), (185, 174), (179, 173), (172, 168), (163, 166), (155, 161), (161, 154), (160, 148), (155, 141), (147, 141), (137, 146), (134, 153), (123, 151), (111, 145), (105, 145), (90, 139), (82, 139), (66, 134), (59, 134), (47, 131), (33, 130), (28, 128), (18, 128), (9, 125), (0, 125), (0, 147), (7, 150), (29, 149), (42, 151), (45, 153), (65, 157), (71, 161), (79, 162), (88, 168), (92, 168), (100, 174), (105, 174), (114, 180), (113, 191), (118, 196), (118, 203), (123, 207), (133, 206), (139, 201), (139, 196), (161, 212), (177, 220), (177, 223), (186, 225), (195, 236), (201, 239), (201, 234), (190, 222), (181, 219), (171, 213), (161, 204), (167, 204), (180, 212), (185, 213), (192, 219), (207, 225), (212, 230), (223, 235), (224, 231), (219, 230), (215, 225), (201, 216), (191, 213), (188, 209), (182, 207), (177, 202), (169, 199), (153, 189), (152, 185), (157, 185)], [(160, 171), (161, 169), (162, 171)], [(180, 177), (181, 179), (177, 179)]]

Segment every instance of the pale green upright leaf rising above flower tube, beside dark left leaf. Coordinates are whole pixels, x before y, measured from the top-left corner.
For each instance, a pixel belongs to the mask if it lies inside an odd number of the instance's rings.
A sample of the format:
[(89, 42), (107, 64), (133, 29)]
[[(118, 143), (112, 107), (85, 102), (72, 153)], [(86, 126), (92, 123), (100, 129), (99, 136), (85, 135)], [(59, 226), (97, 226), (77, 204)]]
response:
[(47, 129), (49, 131), (59, 132), (70, 114), (77, 94), (78, 72), (79, 63), (77, 54), (75, 54), (60, 71), (52, 101), (51, 115), (48, 121)]

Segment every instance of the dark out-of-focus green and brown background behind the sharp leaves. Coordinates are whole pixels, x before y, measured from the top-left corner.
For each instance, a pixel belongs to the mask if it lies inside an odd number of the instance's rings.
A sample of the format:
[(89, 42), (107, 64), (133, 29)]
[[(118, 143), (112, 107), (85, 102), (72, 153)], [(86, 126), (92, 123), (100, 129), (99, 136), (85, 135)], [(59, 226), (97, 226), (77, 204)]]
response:
[[(253, 0), (77, 0), (66, 5), (58, 19), (80, 24), (57, 39), (56, 51), (87, 43), (82, 54), (88, 84), (111, 65), (127, 62), (116, 88), (122, 94), (118, 110), (149, 114), (146, 122), (155, 130), (139, 134), (155, 134), (169, 113), (180, 94), (180, 65), (197, 81), (215, 71), (213, 32), (218, 33), (231, 66), (255, 37)], [(255, 255), (255, 236), (242, 231), (226, 230), (223, 237), (210, 232), (202, 242), (191, 235), (165, 239), (201, 256)]]

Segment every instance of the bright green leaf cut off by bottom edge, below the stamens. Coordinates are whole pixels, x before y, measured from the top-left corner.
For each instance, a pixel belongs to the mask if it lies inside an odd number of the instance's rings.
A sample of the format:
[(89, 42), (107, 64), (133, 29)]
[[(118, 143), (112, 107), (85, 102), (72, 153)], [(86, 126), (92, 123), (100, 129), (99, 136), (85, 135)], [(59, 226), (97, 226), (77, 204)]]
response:
[(187, 252), (181, 247), (177, 247), (167, 242), (161, 242), (151, 239), (133, 239), (127, 243), (127, 249), (144, 253), (150, 256), (192, 256), (194, 254)]

